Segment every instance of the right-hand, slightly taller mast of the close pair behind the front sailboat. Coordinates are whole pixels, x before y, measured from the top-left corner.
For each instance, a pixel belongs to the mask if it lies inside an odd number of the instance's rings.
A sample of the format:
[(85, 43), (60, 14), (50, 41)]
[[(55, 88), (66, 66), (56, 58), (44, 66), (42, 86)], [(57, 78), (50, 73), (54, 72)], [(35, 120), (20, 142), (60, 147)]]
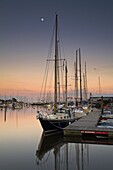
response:
[(79, 48), (79, 71), (80, 71), (80, 103), (82, 104), (82, 75), (81, 75), (81, 52)]

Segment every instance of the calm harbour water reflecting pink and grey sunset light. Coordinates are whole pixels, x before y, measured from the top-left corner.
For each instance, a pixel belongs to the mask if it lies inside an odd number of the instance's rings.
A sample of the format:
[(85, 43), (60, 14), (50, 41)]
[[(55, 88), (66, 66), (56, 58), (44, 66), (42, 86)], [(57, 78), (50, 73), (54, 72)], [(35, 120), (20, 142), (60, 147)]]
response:
[(36, 110), (0, 110), (0, 170), (112, 169), (113, 145), (44, 138)]

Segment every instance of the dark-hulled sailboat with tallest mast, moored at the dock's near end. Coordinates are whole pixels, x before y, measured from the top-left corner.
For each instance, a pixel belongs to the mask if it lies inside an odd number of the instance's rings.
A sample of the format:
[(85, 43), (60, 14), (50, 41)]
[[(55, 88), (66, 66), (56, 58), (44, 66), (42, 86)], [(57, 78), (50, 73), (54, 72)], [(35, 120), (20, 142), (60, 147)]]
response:
[[(38, 111), (37, 118), (41, 123), (41, 126), (45, 134), (52, 132), (63, 132), (63, 128), (68, 126), (70, 123), (75, 121), (75, 118), (71, 116), (70, 110), (68, 108), (58, 108), (58, 68), (59, 68), (59, 57), (58, 57), (58, 16), (55, 19), (55, 58), (54, 58), (54, 109), (50, 114), (44, 115), (42, 112)], [(66, 67), (67, 72), (67, 67)], [(67, 93), (67, 92), (66, 92)], [(67, 97), (66, 97), (67, 98)]]

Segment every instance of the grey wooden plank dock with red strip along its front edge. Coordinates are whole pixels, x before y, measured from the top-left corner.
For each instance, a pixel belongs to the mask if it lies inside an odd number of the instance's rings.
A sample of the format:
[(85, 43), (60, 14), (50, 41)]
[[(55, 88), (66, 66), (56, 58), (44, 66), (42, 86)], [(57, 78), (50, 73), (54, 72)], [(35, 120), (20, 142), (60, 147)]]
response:
[(97, 136), (113, 138), (113, 129), (97, 127), (101, 111), (94, 109), (88, 115), (82, 117), (78, 121), (68, 125), (64, 128), (64, 136), (70, 137), (83, 137), (83, 136)]

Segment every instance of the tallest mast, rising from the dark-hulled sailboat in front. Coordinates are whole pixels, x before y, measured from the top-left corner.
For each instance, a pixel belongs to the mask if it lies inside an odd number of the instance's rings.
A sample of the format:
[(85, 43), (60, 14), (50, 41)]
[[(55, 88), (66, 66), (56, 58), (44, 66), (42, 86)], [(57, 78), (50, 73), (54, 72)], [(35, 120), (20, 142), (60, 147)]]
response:
[(55, 22), (55, 89), (54, 89), (54, 112), (57, 109), (57, 69), (58, 69), (58, 16)]

